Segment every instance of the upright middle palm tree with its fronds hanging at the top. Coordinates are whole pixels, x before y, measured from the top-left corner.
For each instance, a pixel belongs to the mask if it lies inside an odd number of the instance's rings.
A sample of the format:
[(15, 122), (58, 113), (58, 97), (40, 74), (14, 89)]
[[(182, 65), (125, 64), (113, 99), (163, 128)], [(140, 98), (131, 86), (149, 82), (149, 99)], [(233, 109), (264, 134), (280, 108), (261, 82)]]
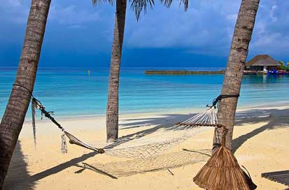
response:
[[(113, 3), (113, 0), (108, 0)], [(165, 6), (171, 6), (172, 0), (161, 0)], [(94, 5), (97, 0), (92, 0)], [(181, 0), (185, 10), (188, 9), (188, 0)], [(154, 0), (132, 0), (131, 8), (136, 14), (136, 20), (139, 20), (141, 11), (146, 13), (147, 6), (150, 8), (155, 4)], [(115, 25), (113, 33), (113, 47), (111, 52), (111, 68), (108, 82), (108, 101), (106, 106), (106, 140), (113, 142), (118, 138), (118, 89), (120, 79), (120, 60), (122, 56), (122, 42), (125, 33), (125, 13), (127, 9), (127, 0), (116, 0)]]

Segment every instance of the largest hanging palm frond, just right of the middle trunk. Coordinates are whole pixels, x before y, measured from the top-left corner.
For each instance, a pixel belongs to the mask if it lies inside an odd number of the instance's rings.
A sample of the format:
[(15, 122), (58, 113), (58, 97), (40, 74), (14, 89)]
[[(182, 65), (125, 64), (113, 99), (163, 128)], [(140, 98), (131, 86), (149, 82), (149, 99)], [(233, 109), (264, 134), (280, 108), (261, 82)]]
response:
[(154, 0), (132, 0), (130, 8), (134, 11), (136, 20), (139, 21), (139, 18), (141, 17), (141, 11), (143, 10), (143, 13), (146, 14), (148, 6), (153, 9), (154, 5)]

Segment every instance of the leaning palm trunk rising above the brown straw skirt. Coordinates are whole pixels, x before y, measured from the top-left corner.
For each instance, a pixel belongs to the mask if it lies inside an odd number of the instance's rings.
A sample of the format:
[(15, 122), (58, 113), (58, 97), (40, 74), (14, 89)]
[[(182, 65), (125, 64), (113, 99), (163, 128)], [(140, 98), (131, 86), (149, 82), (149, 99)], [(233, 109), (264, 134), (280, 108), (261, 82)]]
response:
[[(253, 33), (259, 1), (260, 0), (242, 0), (241, 2), (221, 94), (235, 95), (240, 93), (248, 46)], [(227, 126), (228, 129), (226, 147), (229, 149), (232, 147), (237, 101), (238, 98), (224, 98), (220, 101), (218, 108), (218, 122)], [(222, 139), (220, 134), (220, 131), (216, 129), (213, 138), (214, 145), (220, 144), (219, 140)], [(213, 150), (215, 147), (213, 147)]]

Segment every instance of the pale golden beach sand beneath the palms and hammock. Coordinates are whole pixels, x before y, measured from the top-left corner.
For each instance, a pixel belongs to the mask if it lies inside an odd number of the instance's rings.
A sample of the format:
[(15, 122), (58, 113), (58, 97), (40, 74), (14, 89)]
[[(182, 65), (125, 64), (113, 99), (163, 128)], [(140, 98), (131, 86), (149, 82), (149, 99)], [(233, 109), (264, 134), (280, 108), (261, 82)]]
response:
[[(262, 178), (261, 173), (289, 169), (288, 114), (289, 105), (237, 112), (233, 152), (240, 165), (249, 170), (258, 189), (286, 189), (283, 184)], [(188, 117), (184, 111), (122, 115), (120, 136), (141, 134), (146, 138)], [(59, 121), (82, 140), (105, 141), (104, 117)], [(31, 123), (27, 121), (3, 189), (199, 189), (192, 178), (209, 156), (191, 151), (209, 153), (212, 138), (213, 129), (200, 131), (155, 159), (95, 154), (75, 145), (68, 145), (68, 153), (62, 154), (61, 131), (55, 125), (46, 119), (37, 121), (35, 149)]]

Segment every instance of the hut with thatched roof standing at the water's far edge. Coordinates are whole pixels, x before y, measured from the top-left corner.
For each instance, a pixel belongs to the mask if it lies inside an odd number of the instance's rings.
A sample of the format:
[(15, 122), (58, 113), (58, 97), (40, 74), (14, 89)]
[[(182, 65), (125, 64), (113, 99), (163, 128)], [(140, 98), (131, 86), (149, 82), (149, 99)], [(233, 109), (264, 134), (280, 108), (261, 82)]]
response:
[(281, 64), (268, 54), (258, 54), (246, 63), (246, 71), (264, 72), (278, 70)]

